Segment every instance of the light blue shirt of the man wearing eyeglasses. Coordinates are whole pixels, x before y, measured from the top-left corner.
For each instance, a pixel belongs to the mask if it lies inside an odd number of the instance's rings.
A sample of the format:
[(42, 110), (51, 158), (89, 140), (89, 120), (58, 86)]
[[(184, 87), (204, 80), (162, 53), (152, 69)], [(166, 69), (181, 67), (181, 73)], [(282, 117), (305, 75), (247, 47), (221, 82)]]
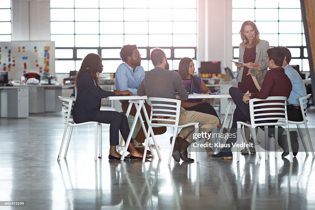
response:
[(134, 72), (131, 66), (123, 62), (118, 66), (115, 74), (115, 88), (118, 91), (129, 90), (132, 94), (137, 95), (137, 90), (144, 76), (145, 71), (142, 66), (136, 66)]

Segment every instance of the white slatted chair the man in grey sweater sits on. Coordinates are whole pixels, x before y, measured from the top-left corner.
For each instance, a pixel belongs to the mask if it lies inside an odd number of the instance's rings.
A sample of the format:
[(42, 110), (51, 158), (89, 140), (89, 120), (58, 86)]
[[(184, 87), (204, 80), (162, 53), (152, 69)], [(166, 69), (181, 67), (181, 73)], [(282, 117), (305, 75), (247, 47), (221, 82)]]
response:
[[(169, 152), (169, 162), (168, 164), (171, 163), (171, 158), (172, 158), (172, 152), (175, 144), (175, 138), (178, 135), (178, 130), (180, 128), (186, 128), (188, 126), (194, 126), (195, 127), (195, 133), (198, 133), (198, 128), (199, 128), (199, 123), (198, 122), (192, 122), (192, 123), (187, 123), (185, 125), (178, 125), (179, 123), (179, 116), (180, 116), (180, 100), (177, 99), (166, 99), (166, 98), (149, 98), (149, 101), (152, 104), (152, 109), (151, 109), (151, 117), (150, 117), (150, 123), (149, 123), (149, 128), (148, 128), (148, 135), (146, 138), (146, 147), (145, 147), (145, 153), (143, 156), (142, 162), (145, 161), (145, 156), (146, 156), (146, 150), (148, 148), (148, 142), (150, 138), (150, 133), (152, 135), (152, 139), (154, 142), (154, 145), (157, 147), (157, 143), (154, 137), (154, 133), (152, 131), (152, 128), (154, 127), (172, 127), (174, 129), (173, 132), (173, 139), (172, 139), (172, 144)], [(173, 109), (169, 109), (173, 108)], [(161, 114), (161, 112), (169, 112), (169, 114)], [(165, 116), (165, 117), (174, 117), (175, 119), (169, 119), (169, 118), (158, 118), (157, 116)], [(152, 123), (152, 121), (167, 121), (167, 122), (172, 122), (174, 124), (164, 124), (164, 123)], [(199, 162), (199, 148), (196, 147), (196, 161)]]

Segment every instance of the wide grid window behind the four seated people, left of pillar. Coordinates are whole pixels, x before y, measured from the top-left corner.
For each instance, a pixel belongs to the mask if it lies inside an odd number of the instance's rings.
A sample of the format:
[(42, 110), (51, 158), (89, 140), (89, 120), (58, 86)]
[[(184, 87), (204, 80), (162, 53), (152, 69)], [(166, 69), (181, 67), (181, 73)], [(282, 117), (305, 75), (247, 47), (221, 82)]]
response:
[(103, 59), (104, 73), (115, 72), (120, 48), (136, 44), (148, 71), (153, 48), (163, 48), (170, 69), (182, 57), (196, 63), (196, 0), (51, 0), (51, 41), (56, 73), (79, 70), (88, 53)]

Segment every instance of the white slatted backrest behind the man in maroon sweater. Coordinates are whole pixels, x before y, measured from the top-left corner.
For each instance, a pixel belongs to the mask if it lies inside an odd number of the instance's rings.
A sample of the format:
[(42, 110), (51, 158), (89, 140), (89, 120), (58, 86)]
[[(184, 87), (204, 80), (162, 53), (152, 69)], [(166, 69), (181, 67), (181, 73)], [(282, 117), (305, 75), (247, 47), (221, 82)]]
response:
[[(266, 99), (250, 99), (249, 112), (252, 128), (267, 125), (281, 126), (284, 125), (284, 120), (287, 125), (288, 118), (286, 104), (287, 97), (284, 96), (270, 96)], [(274, 122), (264, 122), (266, 120)], [(278, 120), (282, 120), (282, 122), (278, 122)]]

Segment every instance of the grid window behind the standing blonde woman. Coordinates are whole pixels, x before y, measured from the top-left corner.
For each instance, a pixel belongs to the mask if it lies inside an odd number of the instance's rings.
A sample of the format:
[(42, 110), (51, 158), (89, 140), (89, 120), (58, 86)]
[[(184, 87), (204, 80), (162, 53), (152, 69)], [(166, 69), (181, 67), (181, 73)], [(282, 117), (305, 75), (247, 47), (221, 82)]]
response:
[[(269, 42), (270, 47), (286, 46), (292, 54), (290, 65), (299, 65), (300, 70), (310, 71), (301, 5), (298, 0), (232, 0), (232, 45), (233, 59), (238, 60), (238, 34), (243, 21), (254, 21), (260, 38)], [(236, 66), (233, 65), (233, 71)]]

